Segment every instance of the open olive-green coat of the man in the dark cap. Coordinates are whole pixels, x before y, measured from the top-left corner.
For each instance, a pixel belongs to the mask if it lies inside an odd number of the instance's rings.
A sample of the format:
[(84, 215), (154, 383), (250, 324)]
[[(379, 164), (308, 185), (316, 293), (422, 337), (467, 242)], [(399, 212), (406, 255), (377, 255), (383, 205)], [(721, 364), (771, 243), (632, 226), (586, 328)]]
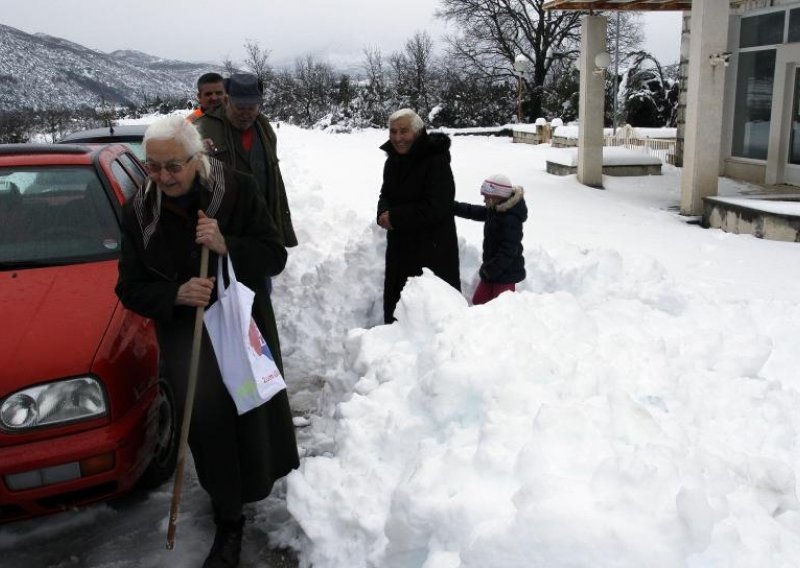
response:
[[(217, 148), (213, 154), (215, 158), (222, 160), (234, 169), (249, 174), (254, 173), (248, 154), (242, 146), (241, 134), (231, 126), (230, 121), (226, 118), (224, 106), (203, 114), (195, 121), (194, 125), (204, 139), (210, 138), (214, 141)], [(256, 118), (255, 129), (266, 154), (264, 156), (267, 164), (266, 187), (262, 188), (262, 191), (267, 202), (267, 209), (275, 220), (283, 245), (286, 247), (297, 246), (297, 236), (294, 226), (292, 226), (292, 213), (286, 197), (286, 186), (283, 183), (283, 175), (278, 163), (278, 138), (264, 115), (259, 114)]]

